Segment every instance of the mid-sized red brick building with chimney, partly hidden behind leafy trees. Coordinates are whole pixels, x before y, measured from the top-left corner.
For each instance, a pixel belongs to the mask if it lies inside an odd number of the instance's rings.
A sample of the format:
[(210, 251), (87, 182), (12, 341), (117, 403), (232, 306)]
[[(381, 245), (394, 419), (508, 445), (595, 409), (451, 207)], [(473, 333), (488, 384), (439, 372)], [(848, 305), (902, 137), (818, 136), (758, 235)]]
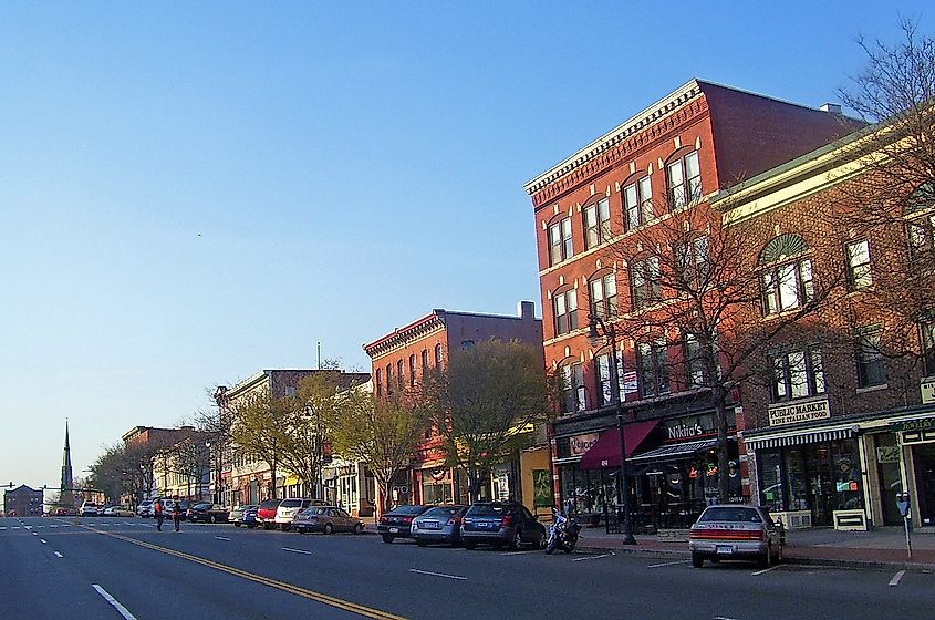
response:
[[(423, 376), (441, 368), (449, 351), (490, 339), (517, 340), (533, 347), (542, 344), (542, 320), (533, 314), (531, 301), (519, 303), (519, 316), (480, 314), (433, 310), (432, 313), (394, 330), (368, 344), (364, 351), (373, 364), (372, 378), (377, 396), (402, 393)], [(427, 436), (413, 455), (412, 467), (394, 484), (395, 504), (467, 503), (467, 477), (445, 467), (441, 442)], [(543, 445), (523, 453), (518, 462), (505, 463), (492, 473), (481, 490), (486, 497), (522, 498), (532, 509), (532, 471), (548, 468)]]

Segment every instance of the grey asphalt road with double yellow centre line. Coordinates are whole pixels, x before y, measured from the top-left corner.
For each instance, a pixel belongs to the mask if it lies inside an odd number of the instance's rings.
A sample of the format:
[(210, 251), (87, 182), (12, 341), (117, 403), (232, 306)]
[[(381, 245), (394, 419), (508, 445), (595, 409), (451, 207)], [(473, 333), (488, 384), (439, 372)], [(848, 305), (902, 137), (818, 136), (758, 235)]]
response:
[[(168, 525), (168, 524), (167, 524)], [(0, 519), (0, 619), (929, 619), (935, 575), (474, 551), (152, 519)]]

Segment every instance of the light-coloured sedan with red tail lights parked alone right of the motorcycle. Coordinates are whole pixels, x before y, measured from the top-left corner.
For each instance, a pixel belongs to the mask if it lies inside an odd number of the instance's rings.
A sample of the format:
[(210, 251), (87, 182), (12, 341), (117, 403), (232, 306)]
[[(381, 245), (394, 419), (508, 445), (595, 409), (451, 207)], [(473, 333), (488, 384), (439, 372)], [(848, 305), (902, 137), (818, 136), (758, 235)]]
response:
[(752, 559), (763, 566), (782, 561), (786, 529), (761, 506), (708, 506), (688, 531), (692, 566), (705, 560)]

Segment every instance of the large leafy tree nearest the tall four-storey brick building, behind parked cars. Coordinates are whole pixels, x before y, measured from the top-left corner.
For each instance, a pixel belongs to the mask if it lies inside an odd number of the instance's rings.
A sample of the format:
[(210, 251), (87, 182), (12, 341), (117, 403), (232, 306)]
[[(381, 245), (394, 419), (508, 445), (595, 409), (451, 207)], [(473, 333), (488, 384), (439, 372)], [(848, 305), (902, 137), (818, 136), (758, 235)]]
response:
[(528, 446), (549, 420), (553, 395), (541, 350), (487, 340), (453, 351), (422, 386), (418, 402), (443, 442), (447, 465), (467, 473), (475, 502), (494, 465)]

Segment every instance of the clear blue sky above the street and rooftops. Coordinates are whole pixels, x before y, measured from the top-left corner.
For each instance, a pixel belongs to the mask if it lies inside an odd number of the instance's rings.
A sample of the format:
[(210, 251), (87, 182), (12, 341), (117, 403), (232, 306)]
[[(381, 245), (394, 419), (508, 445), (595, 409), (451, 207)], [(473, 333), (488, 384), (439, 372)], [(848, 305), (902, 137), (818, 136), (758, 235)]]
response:
[(820, 105), (926, 2), (4, 3), (0, 480), (433, 308), (537, 301), (524, 182), (692, 78)]

